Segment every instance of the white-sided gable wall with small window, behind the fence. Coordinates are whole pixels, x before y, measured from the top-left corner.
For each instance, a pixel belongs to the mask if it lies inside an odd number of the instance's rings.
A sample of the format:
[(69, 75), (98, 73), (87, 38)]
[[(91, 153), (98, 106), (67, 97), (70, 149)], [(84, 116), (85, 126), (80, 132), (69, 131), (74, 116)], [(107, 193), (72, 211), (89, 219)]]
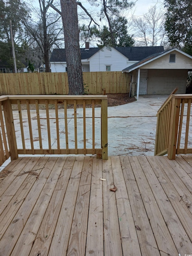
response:
[[(111, 57), (107, 57), (111, 56)], [(128, 58), (123, 56), (113, 47), (110, 50), (107, 47), (99, 50), (89, 59), (90, 72), (92, 71), (106, 71), (106, 66), (111, 66), (111, 71), (121, 71), (128, 67)]]

